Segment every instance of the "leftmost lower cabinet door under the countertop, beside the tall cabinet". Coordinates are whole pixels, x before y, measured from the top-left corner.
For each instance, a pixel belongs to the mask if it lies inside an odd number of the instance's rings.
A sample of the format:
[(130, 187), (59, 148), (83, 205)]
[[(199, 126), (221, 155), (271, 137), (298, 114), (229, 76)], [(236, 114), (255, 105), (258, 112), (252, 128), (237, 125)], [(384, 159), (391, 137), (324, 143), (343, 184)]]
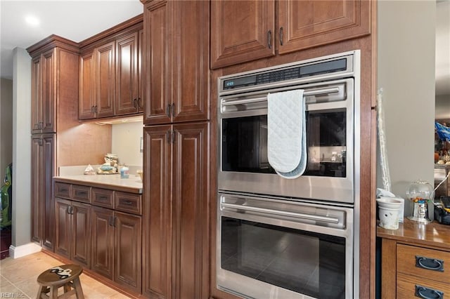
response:
[(55, 198), (55, 253), (70, 259), (72, 255), (72, 215), (70, 201)]

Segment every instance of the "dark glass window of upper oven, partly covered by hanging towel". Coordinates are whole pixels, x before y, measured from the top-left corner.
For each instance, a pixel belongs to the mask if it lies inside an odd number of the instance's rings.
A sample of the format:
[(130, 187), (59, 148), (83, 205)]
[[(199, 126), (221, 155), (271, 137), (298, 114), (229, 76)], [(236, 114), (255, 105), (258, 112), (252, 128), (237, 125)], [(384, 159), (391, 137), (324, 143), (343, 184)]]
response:
[[(267, 159), (267, 116), (222, 119), (221, 170), (275, 173)], [(304, 175), (345, 178), (346, 112), (307, 113), (307, 168)]]

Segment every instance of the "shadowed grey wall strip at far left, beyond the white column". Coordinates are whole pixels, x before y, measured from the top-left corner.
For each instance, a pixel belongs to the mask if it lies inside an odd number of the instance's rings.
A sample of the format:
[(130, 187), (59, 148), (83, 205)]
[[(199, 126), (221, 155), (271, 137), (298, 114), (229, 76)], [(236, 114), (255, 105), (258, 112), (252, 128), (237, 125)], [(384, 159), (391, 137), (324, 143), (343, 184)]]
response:
[(13, 81), (1, 78), (0, 89), (0, 178), (3, 182), (5, 168), (13, 161)]

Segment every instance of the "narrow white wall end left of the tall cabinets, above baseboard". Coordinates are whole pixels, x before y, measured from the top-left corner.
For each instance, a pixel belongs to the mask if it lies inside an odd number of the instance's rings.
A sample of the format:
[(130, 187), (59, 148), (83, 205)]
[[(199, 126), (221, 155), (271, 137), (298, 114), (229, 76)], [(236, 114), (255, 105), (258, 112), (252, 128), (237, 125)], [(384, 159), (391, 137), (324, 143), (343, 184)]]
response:
[(13, 50), (13, 234), (12, 245), (31, 240), (31, 58)]

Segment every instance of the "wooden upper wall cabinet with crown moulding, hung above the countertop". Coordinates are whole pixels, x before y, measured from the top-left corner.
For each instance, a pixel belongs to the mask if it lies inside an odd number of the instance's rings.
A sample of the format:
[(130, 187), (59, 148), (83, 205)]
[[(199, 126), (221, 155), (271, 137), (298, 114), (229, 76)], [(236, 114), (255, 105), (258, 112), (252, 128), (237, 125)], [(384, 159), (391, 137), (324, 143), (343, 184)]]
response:
[(142, 15), (82, 41), (79, 119), (140, 114)]

